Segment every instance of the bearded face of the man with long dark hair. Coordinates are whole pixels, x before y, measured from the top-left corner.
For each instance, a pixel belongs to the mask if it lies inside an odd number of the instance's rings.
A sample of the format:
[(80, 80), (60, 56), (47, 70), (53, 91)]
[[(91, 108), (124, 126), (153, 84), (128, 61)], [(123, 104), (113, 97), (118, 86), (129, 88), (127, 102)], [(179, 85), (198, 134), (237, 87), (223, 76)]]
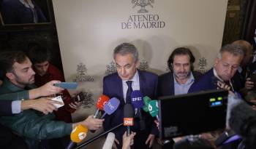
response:
[(173, 73), (178, 80), (189, 78), (191, 65), (189, 55), (175, 55), (173, 57)]

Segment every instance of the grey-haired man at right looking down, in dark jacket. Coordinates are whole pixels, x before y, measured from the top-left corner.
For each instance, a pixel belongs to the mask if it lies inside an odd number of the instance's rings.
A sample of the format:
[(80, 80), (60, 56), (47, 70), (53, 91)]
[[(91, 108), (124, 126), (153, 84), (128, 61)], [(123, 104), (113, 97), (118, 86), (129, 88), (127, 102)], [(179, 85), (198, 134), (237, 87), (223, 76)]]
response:
[(189, 92), (198, 92), (209, 89), (227, 89), (238, 92), (243, 84), (234, 80), (237, 70), (244, 57), (243, 49), (236, 44), (227, 44), (220, 49), (214, 68), (192, 84)]

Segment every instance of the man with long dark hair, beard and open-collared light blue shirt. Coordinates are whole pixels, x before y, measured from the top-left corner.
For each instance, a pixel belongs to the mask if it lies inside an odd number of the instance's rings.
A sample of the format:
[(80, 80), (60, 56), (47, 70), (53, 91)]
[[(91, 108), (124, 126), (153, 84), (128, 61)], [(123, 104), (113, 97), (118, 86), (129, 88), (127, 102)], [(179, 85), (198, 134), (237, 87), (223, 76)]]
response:
[(190, 49), (179, 47), (174, 49), (167, 61), (170, 72), (158, 78), (157, 97), (187, 94), (189, 87), (202, 75), (193, 71), (195, 57)]

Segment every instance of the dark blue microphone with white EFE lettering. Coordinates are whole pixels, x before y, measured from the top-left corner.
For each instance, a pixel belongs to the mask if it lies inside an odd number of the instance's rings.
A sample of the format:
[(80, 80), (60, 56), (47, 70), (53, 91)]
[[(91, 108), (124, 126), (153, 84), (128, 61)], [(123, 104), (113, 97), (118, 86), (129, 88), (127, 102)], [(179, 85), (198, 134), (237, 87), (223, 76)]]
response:
[(140, 118), (140, 130), (146, 129), (145, 120), (141, 113), (141, 108), (144, 106), (143, 94), (139, 90), (134, 90), (131, 93), (132, 105), (138, 109), (138, 116)]

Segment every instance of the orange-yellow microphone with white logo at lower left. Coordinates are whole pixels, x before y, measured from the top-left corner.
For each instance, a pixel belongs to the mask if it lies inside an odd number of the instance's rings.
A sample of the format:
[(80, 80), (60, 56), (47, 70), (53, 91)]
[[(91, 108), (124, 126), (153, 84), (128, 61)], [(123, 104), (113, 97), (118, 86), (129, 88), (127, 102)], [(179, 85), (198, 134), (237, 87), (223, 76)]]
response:
[(88, 129), (86, 126), (83, 126), (81, 124), (78, 124), (78, 126), (75, 126), (75, 128), (72, 130), (70, 134), (71, 141), (69, 142), (69, 145), (66, 149), (71, 149), (74, 147), (74, 145), (78, 142), (81, 142), (84, 138), (86, 138), (86, 134), (88, 132)]

